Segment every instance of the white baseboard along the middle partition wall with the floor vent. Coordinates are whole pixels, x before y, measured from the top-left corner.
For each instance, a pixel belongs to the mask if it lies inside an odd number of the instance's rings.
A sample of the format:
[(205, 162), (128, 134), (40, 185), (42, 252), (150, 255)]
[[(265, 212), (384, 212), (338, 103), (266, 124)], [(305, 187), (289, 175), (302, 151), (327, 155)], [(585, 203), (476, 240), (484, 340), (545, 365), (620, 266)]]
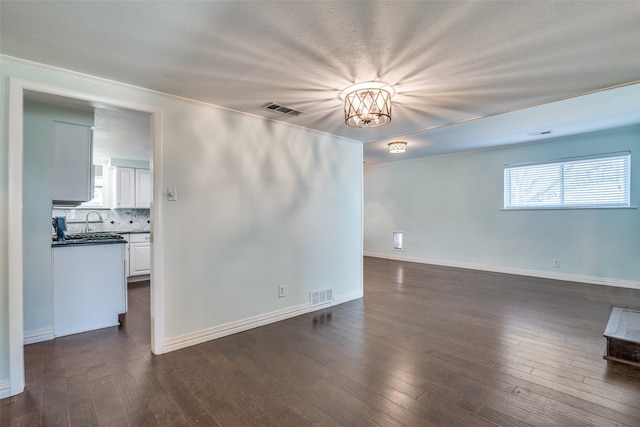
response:
[(216, 338), (222, 338), (226, 337), (227, 335), (236, 334), (238, 332), (248, 331), (249, 329), (257, 328), (258, 326), (264, 326), (270, 323), (286, 320), (291, 317), (296, 317), (302, 314), (311, 313), (313, 311), (322, 310), (327, 307), (332, 307), (334, 305), (362, 298), (362, 295), (363, 292), (362, 289), (360, 289), (358, 291), (334, 296), (333, 302), (331, 304), (322, 304), (313, 307), (309, 303), (301, 304), (282, 310), (272, 311), (270, 313), (262, 314), (259, 316), (249, 317), (247, 319), (226, 323), (224, 325), (215, 326), (213, 328), (202, 329), (200, 331), (191, 332), (174, 338), (169, 338), (164, 340), (163, 353), (180, 350), (182, 348), (190, 347), (196, 344), (202, 344), (203, 342), (211, 341)]

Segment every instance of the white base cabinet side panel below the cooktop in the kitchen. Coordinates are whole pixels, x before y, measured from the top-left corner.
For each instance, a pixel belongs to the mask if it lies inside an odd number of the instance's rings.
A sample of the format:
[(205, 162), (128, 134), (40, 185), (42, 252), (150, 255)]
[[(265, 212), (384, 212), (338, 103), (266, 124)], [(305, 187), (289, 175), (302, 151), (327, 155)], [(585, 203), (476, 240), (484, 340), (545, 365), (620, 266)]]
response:
[(125, 245), (53, 248), (54, 336), (116, 326), (127, 312)]

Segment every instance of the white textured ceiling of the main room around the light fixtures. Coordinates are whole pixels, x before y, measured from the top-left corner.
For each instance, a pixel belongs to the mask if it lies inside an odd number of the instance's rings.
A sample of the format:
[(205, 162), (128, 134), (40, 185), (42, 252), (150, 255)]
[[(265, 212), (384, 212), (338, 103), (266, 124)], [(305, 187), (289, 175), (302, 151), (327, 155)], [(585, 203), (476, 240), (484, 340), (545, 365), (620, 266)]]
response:
[[(0, 39), (4, 55), (362, 141), (368, 164), (640, 123), (639, 1), (2, 0)], [(351, 128), (338, 95), (371, 80), (395, 87), (391, 123)]]

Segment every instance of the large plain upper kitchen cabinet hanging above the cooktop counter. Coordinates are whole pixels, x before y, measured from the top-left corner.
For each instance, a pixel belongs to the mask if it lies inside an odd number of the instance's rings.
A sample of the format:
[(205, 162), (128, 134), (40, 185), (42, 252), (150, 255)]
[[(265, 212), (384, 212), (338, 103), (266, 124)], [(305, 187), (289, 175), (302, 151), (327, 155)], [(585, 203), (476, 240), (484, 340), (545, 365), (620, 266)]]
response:
[(53, 122), (53, 204), (77, 206), (93, 196), (92, 129)]

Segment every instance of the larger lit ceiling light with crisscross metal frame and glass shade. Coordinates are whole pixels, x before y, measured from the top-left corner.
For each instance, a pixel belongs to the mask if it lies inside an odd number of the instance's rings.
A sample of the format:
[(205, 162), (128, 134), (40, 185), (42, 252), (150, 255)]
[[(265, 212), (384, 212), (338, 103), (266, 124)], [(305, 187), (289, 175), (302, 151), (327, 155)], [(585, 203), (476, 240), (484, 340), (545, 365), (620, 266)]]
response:
[(344, 99), (344, 122), (353, 127), (370, 128), (391, 121), (393, 89), (382, 82), (365, 82), (340, 93)]

